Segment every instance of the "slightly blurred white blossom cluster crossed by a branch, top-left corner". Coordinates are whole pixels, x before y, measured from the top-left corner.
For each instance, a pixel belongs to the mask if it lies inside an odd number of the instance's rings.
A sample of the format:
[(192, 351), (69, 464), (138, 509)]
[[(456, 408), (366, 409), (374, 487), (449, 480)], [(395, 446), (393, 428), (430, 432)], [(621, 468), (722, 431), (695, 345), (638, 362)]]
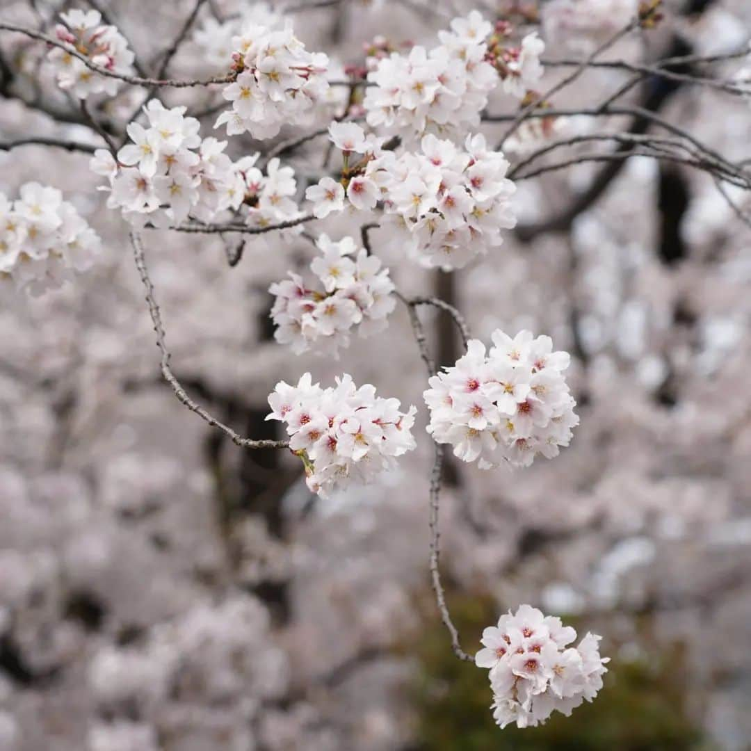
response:
[[(65, 25), (56, 26), (59, 41), (108, 71), (123, 75), (133, 72), (135, 56), (128, 49), (128, 41), (114, 26), (102, 25), (99, 11), (74, 10), (60, 17)], [(100, 92), (113, 96), (117, 92), (119, 81), (116, 78), (92, 71), (82, 60), (60, 47), (50, 50), (48, 59), (54, 65), (60, 88), (80, 99)]]

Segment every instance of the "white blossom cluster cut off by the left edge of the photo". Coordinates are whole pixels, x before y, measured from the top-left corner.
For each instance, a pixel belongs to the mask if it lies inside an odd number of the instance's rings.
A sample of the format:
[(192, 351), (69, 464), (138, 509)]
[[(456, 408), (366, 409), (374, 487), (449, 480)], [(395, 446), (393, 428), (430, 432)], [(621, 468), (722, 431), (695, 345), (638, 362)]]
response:
[(0, 193), (0, 280), (41, 294), (88, 269), (100, 250), (98, 234), (59, 190), (27, 182), (16, 201)]

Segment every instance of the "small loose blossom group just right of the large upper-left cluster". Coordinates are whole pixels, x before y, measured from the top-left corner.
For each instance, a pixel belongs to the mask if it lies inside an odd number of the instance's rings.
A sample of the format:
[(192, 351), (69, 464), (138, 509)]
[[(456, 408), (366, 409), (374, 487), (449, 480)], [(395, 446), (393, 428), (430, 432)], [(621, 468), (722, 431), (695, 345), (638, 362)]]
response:
[[(258, 152), (244, 156), (234, 164), (234, 170), (240, 176), (243, 201), (240, 210), (245, 215), (245, 223), (263, 229), (303, 216), (294, 201), (297, 180), (292, 167), (282, 167), (279, 158), (274, 157), (269, 160), (265, 170), (261, 170), (256, 166), (259, 156)], [(302, 226), (298, 225), (282, 232), (295, 236), (302, 231)]]

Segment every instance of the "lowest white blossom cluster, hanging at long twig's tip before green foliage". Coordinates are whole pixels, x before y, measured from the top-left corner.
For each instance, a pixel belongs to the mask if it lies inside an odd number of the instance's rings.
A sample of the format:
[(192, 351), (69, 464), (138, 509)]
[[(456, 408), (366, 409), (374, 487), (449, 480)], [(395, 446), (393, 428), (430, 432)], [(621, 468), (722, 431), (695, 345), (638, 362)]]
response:
[(535, 727), (555, 710), (568, 717), (595, 698), (609, 658), (600, 656), (599, 636), (587, 633), (578, 647), (568, 647), (575, 639), (571, 626), (529, 605), (484, 630), (475, 663), (490, 668), (493, 718), (501, 728)]

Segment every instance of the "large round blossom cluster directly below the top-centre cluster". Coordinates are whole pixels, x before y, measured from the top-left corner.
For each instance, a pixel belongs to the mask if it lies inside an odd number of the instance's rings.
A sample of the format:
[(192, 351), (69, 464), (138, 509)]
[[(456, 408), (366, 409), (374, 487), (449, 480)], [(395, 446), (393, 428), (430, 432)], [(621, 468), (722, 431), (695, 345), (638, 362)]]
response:
[(482, 135), (468, 136), (460, 149), (429, 134), (420, 153), (385, 152), (369, 170), (385, 171), (376, 173), (385, 212), (409, 254), (426, 267), (461, 268), (501, 245), (501, 229), (516, 225), (508, 161)]

